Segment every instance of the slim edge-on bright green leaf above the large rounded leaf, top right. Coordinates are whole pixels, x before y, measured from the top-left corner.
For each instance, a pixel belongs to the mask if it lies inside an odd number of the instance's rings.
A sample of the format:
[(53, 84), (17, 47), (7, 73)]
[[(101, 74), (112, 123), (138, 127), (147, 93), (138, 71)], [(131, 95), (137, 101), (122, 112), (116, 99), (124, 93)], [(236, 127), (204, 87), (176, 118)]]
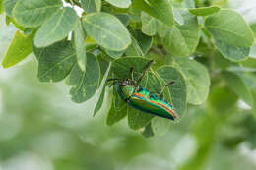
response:
[(202, 7), (202, 8), (190, 8), (189, 12), (195, 16), (209, 16), (217, 13), (221, 10), (218, 6)]

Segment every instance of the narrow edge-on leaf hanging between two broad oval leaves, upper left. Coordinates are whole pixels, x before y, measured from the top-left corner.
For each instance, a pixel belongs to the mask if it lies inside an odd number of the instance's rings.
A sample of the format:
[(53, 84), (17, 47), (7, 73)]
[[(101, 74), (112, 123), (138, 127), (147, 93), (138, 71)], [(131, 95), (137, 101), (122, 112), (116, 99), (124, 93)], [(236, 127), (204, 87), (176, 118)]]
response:
[(82, 71), (86, 70), (85, 63), (87, 63), (85, 36), (86, 35), (84, 34), (81, 21), (79, 20), (77, 27), (74, 30), (74, 41), (75, 41), (78, 65)]

